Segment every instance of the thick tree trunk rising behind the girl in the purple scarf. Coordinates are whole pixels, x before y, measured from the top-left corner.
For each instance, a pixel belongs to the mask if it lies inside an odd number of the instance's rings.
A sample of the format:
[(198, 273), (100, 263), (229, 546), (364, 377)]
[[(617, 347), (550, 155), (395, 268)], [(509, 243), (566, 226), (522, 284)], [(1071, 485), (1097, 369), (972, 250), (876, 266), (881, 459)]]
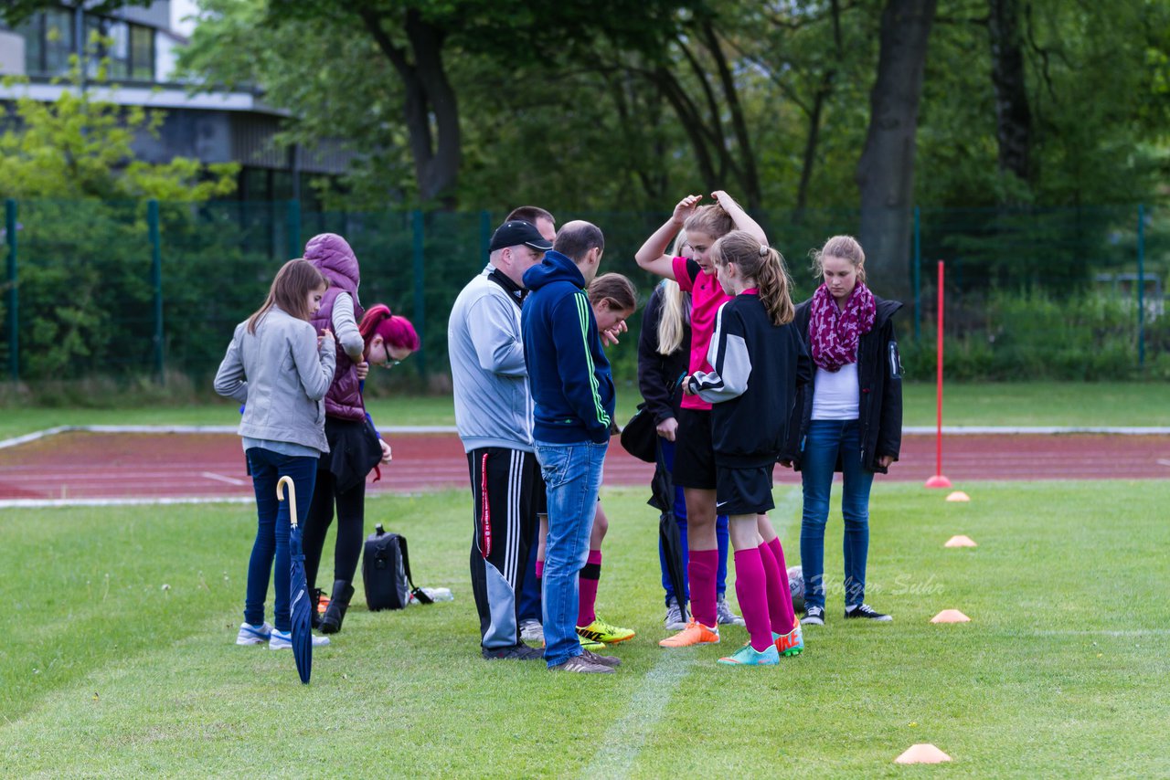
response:
[(870, 92), (869, 130), (858, 163), (861, 246), (882, 289), (910, 294), (910, 209), (915, 137), (937, 0), (887, 0), (881, 50)]

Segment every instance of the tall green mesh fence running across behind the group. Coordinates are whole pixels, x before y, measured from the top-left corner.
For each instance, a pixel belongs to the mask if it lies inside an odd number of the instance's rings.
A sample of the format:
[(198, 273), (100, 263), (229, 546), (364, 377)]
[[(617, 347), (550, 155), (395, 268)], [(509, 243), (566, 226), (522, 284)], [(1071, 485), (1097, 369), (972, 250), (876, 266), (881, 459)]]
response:
[[(605, 271), (655, 279), (634, 253), (665, 214), (574, 215), (606, 234)], [(447, 373), (447, 313), (487, 260), (503, 214), (316, 213), (296, 202), (9, 200), (2, 227), (0, 365), (14, 381), (214, 372), (232, 329), (280, 264), (317, 233), (362, 262), (364, 304), (408, 316), (425, 379)], [(759, 215), (787, 257), (794, 298), (815, 285), (807, 253), (854, 233), (856, 212)], [(934, 366), (935, 268), (947, 263), (947, 370), (956, 378), (1170, 377), (1164, 284), (1170, 212), (1149, 206), (916, 209), (913, 279), (900, 333), (907, 372)], [(874, 282), (882, 294), (881, 279)], [(915, 304), (918, 305), (915, 305)], [(632, 378), (635, 334), (614, 351)], [(951, 341), (954, 341), (951, 344)]]

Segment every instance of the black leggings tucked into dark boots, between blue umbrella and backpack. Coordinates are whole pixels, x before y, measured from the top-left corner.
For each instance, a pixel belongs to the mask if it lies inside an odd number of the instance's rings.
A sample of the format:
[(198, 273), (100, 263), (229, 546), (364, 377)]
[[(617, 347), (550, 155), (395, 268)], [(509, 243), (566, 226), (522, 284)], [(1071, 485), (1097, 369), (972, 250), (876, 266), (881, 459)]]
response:
[(337, 502), (337, 544), (333, 546), (333, 579), (353, 581), (362, 557), (362, 534), (365, 526), (365, 481), (343, 493), (337, 492), (332, 471), (318, 469), (317, 486), (304, 522), (304, 573), (309, 588), (316, 587), (321, 552), (325, 533), (333, 522), (333, 502)]

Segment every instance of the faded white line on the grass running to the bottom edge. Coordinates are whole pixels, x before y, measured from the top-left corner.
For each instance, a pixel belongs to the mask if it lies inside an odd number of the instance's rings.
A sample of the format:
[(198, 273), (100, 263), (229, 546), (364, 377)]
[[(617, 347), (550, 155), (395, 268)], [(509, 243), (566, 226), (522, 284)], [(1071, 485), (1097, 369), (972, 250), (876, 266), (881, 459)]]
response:
[(670, 697), (695, 662), (696, 657), (686, 650), (663, 650), (654, 668), (642, 677), (638, 690), (629, 697), (625, 715), (613, 722), (601, 738), (601, 747), (581, 773), (583, 778), (629, 775), (646, 738), (658, 730)]

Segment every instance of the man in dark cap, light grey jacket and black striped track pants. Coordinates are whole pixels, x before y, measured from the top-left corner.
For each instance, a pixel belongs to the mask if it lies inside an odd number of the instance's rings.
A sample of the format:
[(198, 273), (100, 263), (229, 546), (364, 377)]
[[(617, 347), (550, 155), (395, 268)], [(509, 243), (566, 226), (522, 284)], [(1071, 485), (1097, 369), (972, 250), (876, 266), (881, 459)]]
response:
[(531, 222), (501, 225), (487, 268), (459, 294), (447, 325), (455, 427), (472, 478), (472, 592), (489, 660), (542, 657), (521, 642), (516, 614), (543, 489), (519, 312), (524, 271), (551, 248)]

